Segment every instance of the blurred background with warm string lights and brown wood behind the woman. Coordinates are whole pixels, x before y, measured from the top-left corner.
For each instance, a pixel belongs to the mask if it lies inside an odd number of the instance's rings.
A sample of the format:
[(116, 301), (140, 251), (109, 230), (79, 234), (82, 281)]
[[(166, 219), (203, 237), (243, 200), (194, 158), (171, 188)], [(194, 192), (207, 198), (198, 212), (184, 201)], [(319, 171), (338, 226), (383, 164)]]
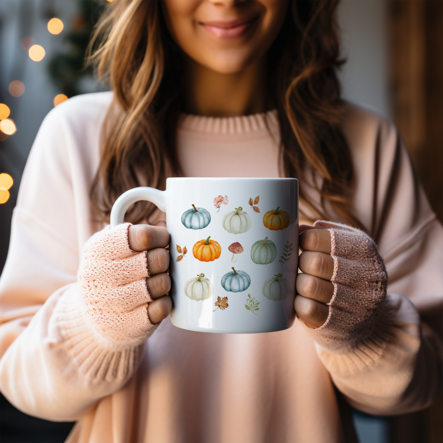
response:
[[(117, 0), (118, 1), (118, 0)], [(106, 90), (83, 69), (106, 0), (0, 0), (0, 270), (23, 167), (45, 115), (77, 94)], [(443, 1), (342, 0), (344, 97), (394, 121), (443, 217)], [(1, 396), (0, 440), (62, 442), (73, 424), (27, 416)], [(442, 401), (397, 417), (354, 412), (362, 443), (443, 442)]]

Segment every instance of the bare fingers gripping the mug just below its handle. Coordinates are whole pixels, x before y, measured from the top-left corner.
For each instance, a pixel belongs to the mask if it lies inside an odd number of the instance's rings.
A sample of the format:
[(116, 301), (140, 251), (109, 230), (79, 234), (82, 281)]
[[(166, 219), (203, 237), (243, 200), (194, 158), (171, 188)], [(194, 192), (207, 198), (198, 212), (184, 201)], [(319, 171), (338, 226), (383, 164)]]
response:
[(166, 273), (169, 268), (169, 253), (165, 249), (169, 245), (166, 223), (159, 221), (154, 226), (130, 226), (128, 243), (133, 251), (148, 251), (146, 260), (151, 276), (146, 280), (146, 285), (153, 299), (148, 304), (148, 318), (155, 325), (165, 319), (172, 308), (171, 297), (166, 295), (171, 289), (171, 278)]

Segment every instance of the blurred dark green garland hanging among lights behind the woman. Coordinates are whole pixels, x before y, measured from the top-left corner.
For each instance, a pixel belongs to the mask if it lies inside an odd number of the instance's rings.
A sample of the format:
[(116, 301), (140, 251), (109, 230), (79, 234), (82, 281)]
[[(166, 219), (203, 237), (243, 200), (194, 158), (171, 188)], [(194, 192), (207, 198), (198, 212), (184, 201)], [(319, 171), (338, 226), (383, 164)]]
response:
[(98, 0), (78, 1), (78, 14), (74, 17), (72, 30), (64, 38), (70, 43), (69, 50), (55, 54), (48, 64), (51, 78), (67, 97), (81, 93), (79, 81), (93, 74), (92, 66), (84, 68), (85, 52), (93, 27), (105, 9), (105, 4), (105, 1)]

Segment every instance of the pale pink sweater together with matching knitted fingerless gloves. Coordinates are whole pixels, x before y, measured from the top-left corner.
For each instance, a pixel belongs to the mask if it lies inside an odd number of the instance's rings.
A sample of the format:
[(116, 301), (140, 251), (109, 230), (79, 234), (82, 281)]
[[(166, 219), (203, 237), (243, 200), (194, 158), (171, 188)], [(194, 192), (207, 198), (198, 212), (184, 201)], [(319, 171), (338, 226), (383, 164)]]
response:
[[(35, 416), (78, 420), (70, 442), (336, 442), (352, 437), (334, 385), (377, 414), (438, 396), (441, 343), (420, 328), (419, 312), (442, 303), (443, 231), (389, 121), (348, 107), (354, 207), (369, 236), (338, 216), (319, 222), (334, 257), (323, 326), (295, 320), (276, 333), (206, 334), (165, 319), (153, 330), (144, 253), (128, 248), (127, 225), (106, 228), (89, 205), (111, 99), (89, 94), (57, 106), (31, 150), (0, 279), (8, 400)], [(187, 116), (178, 152), (188, 176), (229, 176), (233, 156), (244, 176), (280, 174), (273, 113)], [(157, 211), (150, 221), (159, 219)]]

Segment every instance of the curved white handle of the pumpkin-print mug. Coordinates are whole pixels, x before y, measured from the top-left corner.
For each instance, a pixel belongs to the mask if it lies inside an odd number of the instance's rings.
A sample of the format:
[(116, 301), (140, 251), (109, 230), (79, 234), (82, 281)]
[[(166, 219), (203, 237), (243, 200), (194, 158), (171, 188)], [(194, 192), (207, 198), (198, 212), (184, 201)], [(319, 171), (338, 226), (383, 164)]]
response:
[(166, 212), (166, 191), (144, 186), (132, 188), (121, 194), (115, 201), (111, 210), (111, 228), (123, 223), (128, 207), (140, 200), (152, 202), (159, 210)]

